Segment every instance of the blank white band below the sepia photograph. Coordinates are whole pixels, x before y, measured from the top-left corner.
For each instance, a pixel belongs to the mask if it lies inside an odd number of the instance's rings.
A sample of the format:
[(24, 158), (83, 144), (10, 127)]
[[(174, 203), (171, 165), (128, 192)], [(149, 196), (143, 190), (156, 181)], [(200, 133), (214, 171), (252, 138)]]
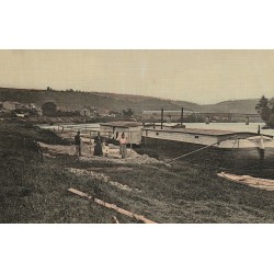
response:
[(9, 225), (3, 273), (270, 273), (266, 225)]

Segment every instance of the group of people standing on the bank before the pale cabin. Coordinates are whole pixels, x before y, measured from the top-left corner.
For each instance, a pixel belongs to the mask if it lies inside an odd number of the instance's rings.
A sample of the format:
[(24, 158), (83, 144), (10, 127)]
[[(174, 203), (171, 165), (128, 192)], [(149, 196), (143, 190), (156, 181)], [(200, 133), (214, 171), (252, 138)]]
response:
[[(126, 149), (127, 139), (124, 133), (121, 135), (121, 138), (118, 140), (119, 140), (119, 153), (122, 158), (125, 159), (127, 155), (127, 149)], [(76, 145), (76, 155), (81, 156), (81, 136), (80, 136), (79, 130), (77, 132), (77, 135), (75, 136), (75, 145)], [(94, 138), (93, 156), (103, 156), (102, 145), (103, 145), (103, 137), (101, 136), (99, 132), (96, 137)], [(109, 145), (105, 144), (105, 147), (109, 148)], [(106, 149), (106, 156), (107, 153), (109, 153), (109, 149)]]

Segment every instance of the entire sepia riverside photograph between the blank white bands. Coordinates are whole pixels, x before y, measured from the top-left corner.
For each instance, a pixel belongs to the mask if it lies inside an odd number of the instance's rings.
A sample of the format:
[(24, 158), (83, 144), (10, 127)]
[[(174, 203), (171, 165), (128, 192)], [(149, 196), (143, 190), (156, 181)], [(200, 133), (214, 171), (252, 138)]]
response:
[(1, 224), (274, 222), (274, 50), (1, 49)]

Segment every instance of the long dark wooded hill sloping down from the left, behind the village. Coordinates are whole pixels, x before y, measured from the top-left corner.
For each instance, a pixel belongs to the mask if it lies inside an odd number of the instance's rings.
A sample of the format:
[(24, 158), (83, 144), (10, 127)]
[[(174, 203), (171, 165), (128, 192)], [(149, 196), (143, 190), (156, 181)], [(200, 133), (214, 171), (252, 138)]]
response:
[(176, 102), (152, 96), (139, 96), (101, 92), (76, 92), (76, 91), (48, 91), (48, 90), (20, 90), (0, 88), (0, 101), (16, 101), (22, 103), (35, 103), (42, 105), (45, 102), (55, 102), (58, 106), (69, 110), (79, 110), (84, 105), (104, 107), (122, 112), (133, 109), (136, 113), (146, 110), (179, 110), (181, 105), (195, 110), (197, 104), (190, 102)]

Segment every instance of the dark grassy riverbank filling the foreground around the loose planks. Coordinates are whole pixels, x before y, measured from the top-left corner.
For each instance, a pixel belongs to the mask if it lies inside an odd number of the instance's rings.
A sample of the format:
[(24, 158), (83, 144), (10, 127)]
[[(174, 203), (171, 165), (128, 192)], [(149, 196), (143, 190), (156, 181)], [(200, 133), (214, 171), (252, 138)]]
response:
[[(75, 187), (157, 222), (274, 222), (274, 192), (217, 178), (220, 158), (204, 153), (167, 167), (75, 157), (44, 157), (35, 140), (68, 145), (55, 134), (25, 123), (0, 122), (0, 222), (134, 222), (111, 209), (70, 194)], [(139, 149), (160, 160), (182, 151)], [(205, 158), (206, 157), (206, 158)], [(98, 169), (125, 191), (68, 169)]]

